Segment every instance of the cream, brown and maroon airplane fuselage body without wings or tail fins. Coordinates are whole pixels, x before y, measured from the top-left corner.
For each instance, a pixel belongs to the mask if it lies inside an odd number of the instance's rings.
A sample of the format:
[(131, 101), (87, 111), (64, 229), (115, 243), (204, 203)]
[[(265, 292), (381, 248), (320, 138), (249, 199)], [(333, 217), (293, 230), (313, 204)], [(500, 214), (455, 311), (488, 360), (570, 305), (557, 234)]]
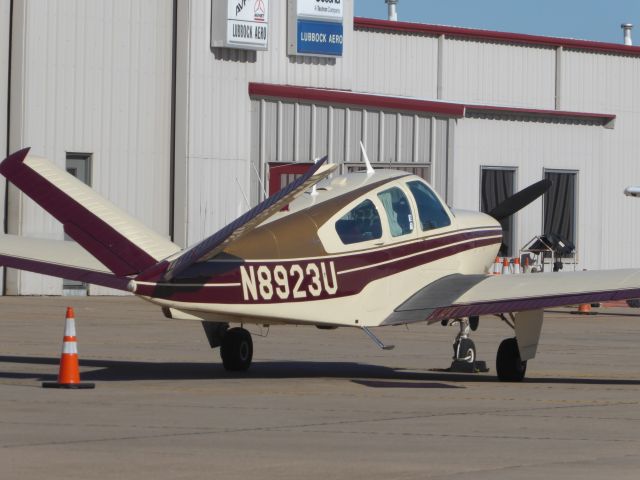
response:
[[(455, 273), (486, 273), (502, 241), (496, 220), (477, 212), (451, 211), (432, 191), (432, 200), (444, 212), (439, 213), (442, 226), (422, 228), (425, 212), (418, 210), (418, 200), (407, 186), (415, 190), (416, 182), (426, 187), (418, 177), (402, 172), (382, 180), (377, 174), (351, 174), (342, 188), (319, 188), (319, 198), (292, 204), (290, 211), (248, 233), (234, 248), (193, 265), (178, 278), (163, 281), (162, 272), (141, 275), (135, 280), (135, 293), (174, 309), (173, 316), (182, 318), (380, 325), (390, 313), (389, 305), (400, 304), (420, 285)], [(395, 236), (397, 218), (387, 217), (399, 215), (391, 213), (384, 197), (390, 191), (408, 200), (409, 210), (403, 214), (412, 222)], [(325, 192), (329, 194), (323, 198)], [(376, 238), (368, 238), (369, 232), (355, 240), (341, 235), (345, 216), (369, 203), (380, 218), (379, 231), (368, 227)]]

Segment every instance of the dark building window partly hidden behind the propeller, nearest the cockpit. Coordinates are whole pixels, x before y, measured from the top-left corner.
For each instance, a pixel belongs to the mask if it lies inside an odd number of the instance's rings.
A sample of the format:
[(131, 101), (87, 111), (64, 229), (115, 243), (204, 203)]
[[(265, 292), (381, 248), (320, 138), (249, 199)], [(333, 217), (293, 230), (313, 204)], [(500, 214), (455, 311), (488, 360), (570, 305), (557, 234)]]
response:
[[(487, 213), (514, 194), (516, 172), (514, 169), (483, 168), (480, 179), (480, 210)], [(513, 257), (514, 246), (513, 217), (500, 222), (502, 226), (502, 246), (500, 255)]]

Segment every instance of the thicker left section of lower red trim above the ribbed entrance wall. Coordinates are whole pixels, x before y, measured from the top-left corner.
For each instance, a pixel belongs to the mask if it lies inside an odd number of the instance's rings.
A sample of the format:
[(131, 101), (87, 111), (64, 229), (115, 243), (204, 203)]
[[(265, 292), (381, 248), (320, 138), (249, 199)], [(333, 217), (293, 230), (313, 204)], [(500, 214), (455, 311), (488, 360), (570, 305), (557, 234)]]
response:
[(367, 93), (353, 93), (346, 90), (328, 90), (311, 87), (296, 87), (291, 85), (250, 83), (249, 96), (289, 98), (322, 103), (356, 105), (358, 107), (386, 108), (390, 110), (408, 110), (411, 112), (441, 114), (449, 117), (464, 116), (464, 105), (457, 103), (414, 100), (411, 98), (389, 97)]

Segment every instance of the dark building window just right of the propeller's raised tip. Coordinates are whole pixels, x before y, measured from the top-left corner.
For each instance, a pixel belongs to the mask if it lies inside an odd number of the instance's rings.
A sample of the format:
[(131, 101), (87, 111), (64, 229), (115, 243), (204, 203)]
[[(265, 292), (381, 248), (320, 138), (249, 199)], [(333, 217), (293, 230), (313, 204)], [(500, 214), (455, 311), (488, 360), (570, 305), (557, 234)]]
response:
[(546, 170), (544, 178), (552, 185), (543, 197), (544, 232), (559, 235), (561, 239), (576, 243), (576, 172)]

